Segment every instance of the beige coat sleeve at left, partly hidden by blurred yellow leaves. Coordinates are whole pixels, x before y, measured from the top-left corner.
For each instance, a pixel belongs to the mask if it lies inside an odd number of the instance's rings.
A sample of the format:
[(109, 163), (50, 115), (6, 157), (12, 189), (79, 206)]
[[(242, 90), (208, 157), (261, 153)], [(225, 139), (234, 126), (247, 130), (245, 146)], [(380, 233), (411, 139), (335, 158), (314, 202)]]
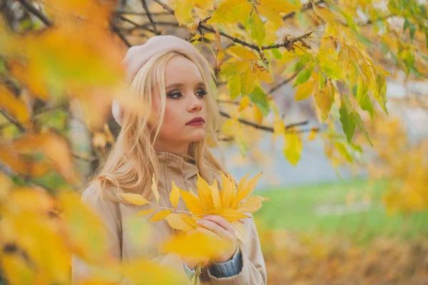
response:
[[(98, 192), (92, 187), (86, 188), (83, 191), (81, 202), (85, 203), (90, 207), (97, 215), (101, 218), (101, 221), (106, 227), (108, 235), (108, 246), (111, 257), (116, 260), (122, 259), (122, 244), (121, 244), (121, 217), (118, 212), (117, 204), (108, 201), (107, 199), (101, 199)], [(172, 269), (178, 271), (185, 281), (188, 278), (183, 269), (183, 262), (178, 255), (170, 253), (161, 255), (150, 259), (158, 264), (169, 266)], [(71, 258), (71, 284), (80, 284), (82, 281), (91, 277), (92, 266), (83, 261), (76, 254), (73, 254)], [(118, 284), (120, 285), (134, 285), (131, 281), (123, 278)], [(185, 285), (190, 284), (186, 282)]]

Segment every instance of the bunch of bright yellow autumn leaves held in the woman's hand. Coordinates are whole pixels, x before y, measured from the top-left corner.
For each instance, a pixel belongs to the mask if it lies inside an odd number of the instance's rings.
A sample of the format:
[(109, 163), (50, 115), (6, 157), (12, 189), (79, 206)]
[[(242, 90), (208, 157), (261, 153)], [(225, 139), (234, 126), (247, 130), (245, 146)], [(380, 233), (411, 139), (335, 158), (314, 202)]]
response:
[[(138, 194), (120, 193), (120, 195), (133, 204), (153, 204), (153, 209), (145, 209), (138, 212), (138, 216), (151, 214), (155, 212), (156, 209), (159, 209), (148, 219), (149, 222), (158, 222), (162, 219), (166, 219), (170, 227), (179, 229), (183, 232), (190, 232), (197, 229), (199, 226), (196, 224), (196, 221), (202, 219), (206, 215), (224, 217), (235, 228), (235, 235), (238, 242), (247, 243), (247, 232), (243, 222), (240, 222), (240, 219), (249, 218), (245, 213), (258, 211), (262, 207), (262, 202), (269, 200), (269, 198), (257, 195), (250, 197), (251, 192), (253, 192), (262, 174), (263, 172), (260, 172), (258, 175), (248, 180), (248, 176), (250, 175), (248, 173), (248, 175), (245, 175), (245, 177), (240, 180), (237, 187), (233, 178), (220, 173), (222, 177), (222, 187), (221, 190), (219, 190), (217, 180), (214, 180), (213, 185), (209, 185), (198, 173), (198, 180), (196, 182), (198, 193), (193, 192), (191, 188), (189, 191), (182, 190), (172, 182), (173, 185), (169, 199), (173, 205), (173, 209), (159, 207), (159, 192), (154, 175), (152, 177), (151, 190), (156, 197), (157, 205), (149, 202)], [(185, 202), (188, 212), (176, 209), (180, 197)], [(195, 259), (210, 258), (215, 255), (216, 251), (226, 247), (225, 244), (212, 239), (213, 237), (207, 237), (206, 234), (197, 232), (187, 237), (176, 237), (165, 244), (164, 249), (194, 257)], [(215, 249), (212, 247), (213, 243), (215, 243)], [(195, 275), (191, 280), (191, 284), (200, 284), (202, 268), (202, 263), (199, 262), (195, 268)]]

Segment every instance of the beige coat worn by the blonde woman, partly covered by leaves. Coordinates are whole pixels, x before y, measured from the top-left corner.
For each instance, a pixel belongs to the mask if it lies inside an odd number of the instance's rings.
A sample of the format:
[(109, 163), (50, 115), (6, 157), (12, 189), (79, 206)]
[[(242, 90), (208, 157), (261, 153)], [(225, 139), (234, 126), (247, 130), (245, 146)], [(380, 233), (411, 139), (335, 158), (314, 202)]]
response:
[[(170, 152), (156, 152), (160, 163), (160, 175), (158, 177), (158, 191), (160, 195), (159, 206), (160, 207), (172, 207), (168, 199), (171, 191), (171, 183), (175, 182), (177, 187), (188, 190), (192, 188), (196, 190), (196, 180), (198, 168), (194, 165), (194, 160), (187, 155), (173, 155)], [(220, 176), (218, 182), (221, 182)], [(221, 183), (219, 184), (221, 185)], [(114, 192), (113, 192), (114, 191)], [(116, 193), (115, 193), (116, 192)], [(112, 190), (116, 197), (121, 198), (117, 195), (117, 190)], [(118, 260), (122, 259), (141, 259), (143, 257), (154, 259), (159, 261), (161, 264), (174, 266), (175, 269), (180, 271), (180, 274), (185, 275), (183, 262), (178, 259), (175, 254), (161, 255), (158, 251), (158, 245), (164, 242), (166, 239), (172, 237), (175, 233), (175, 229), (171, 229), (168, 222), (163, 219), (160, 222), (147, 222), (148, 217), (139, 217), (143, 222), (147, 223), (151, 237), (149, 237), (145, 244), (133, 244), (131, 241), (131, 235), (127, 232), (127, 221), (128, 217), (136, 217), (136, 213), (142, 209), (150, 208), (150, 205), (145, 204), (143, 206), (138, 205), (126, 205), (121, 203), (114, 203), (107, 199), (101, 200), (98, 197), (96, 190), (88, 187), (84, 190), (82, 195), (82, 201), (86, 202), (96, 210), (105, 222), (108, 228), (109, 239), (111, 241), (111, 254)], [(154, 199), (154, 198), (153, 198)], [(152, 201), (153, 202), (153, 201)], [(156, 202), (155, 202), (156, 203)], [(152, 206), (153, 207), (153, 206)], [(177, 209), (188, 210), (180, 199)], [(260, 242), (258, 232), (255, 228), (253, 219), (243, 219), (245, 222), (245, 228), (248, 231), (248, 237), (250, 243), (243, 243), (242, 257), (243, 257), (243, 269), (240, 274), (225, 278), (215, 278), (210, 274), (210, 270), (206, 267), (203, 268), (202, 280), (208, 284), (214, 285), (262, 285), (267, 282), (265, 261), (263, 254), (260, 249)], [(84, 278), (88, 271), (86, 264), (73, 256), (72, 261), (72, 280), (73, 284), (78, 280)], [(187, 277), (187, 276), (185, 276)], [(188, 280), (188, 279), (185, 279)], [(131, 284), (127, 281), (123, 281), (122, 284)], [(135, 284), (139, 285), (139, 284)]]

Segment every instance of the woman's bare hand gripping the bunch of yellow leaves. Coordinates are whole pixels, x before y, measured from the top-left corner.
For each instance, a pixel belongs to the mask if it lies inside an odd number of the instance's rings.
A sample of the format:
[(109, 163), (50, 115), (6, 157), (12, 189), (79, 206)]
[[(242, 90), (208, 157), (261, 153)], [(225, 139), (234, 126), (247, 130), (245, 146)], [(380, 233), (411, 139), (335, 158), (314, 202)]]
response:
[(218, 215), (205, 216), (203, 219), (199, 219), (197, 224), (201, 227), (196, 230), (205, 232), (206, 234), (215, 234), (230, 245), (225, 250), (219, 252), (217, 257), (213, 257), (211, 260), (220, 263), (232, 259), (238, 247), (233, 225), (230, 224), (227, 219)]

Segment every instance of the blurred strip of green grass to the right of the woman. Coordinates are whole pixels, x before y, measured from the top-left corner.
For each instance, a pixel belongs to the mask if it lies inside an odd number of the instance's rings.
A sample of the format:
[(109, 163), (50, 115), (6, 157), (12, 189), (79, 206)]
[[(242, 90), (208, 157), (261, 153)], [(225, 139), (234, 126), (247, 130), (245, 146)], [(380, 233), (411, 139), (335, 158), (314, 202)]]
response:
[[(254, 216), (272, 229), (344, 235), (361, 242), (377, 236), (411, 238), (418, 234), (428, 235), (428, 211), (408, 216), (389, 215), (381, 200), (384, 192), (384, 182), (365, 180), (259, 190), (257, 195), (271, 199), (263, 202), (262, 209)], [(346, 206), (347, 199), (353, 197), (353, 203), (362, 203), (367, 195), (370, 195), (370, 204), (360, 212), (352, 212)], [(344, 212), (317, 212), (326, 205), (330, 210), (340, 208)]]

